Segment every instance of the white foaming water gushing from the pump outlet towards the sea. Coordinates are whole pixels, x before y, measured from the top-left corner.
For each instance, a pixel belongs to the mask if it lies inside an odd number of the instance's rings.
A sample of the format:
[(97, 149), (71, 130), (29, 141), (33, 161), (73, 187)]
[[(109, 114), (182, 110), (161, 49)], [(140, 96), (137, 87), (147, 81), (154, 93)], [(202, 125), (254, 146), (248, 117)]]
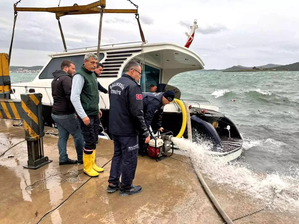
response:
[[(240, 161), (225, 163), (220, 157), (207, 154), (209, 145), (173, 138), (173, 142), (190, 157), (196, 171), (201, 172), (217, 185), (229, 185), (228, 191), (245, 194), (255, 200), (270, 202), (276, 198), (272, 208), (280, 211), (297, 212), (299, 209), (299, 170), (295, 177), (280, 173), (255, 173)], [(264, 143), (274, 143), (267, 139)], [(260, 143), (251, 143), (252, 145)], [(283, 143), (284, 144), (284, 143)], [(247, 146), (249, 147), (249, 146)], [(275, 193), (274, 193), (275, 192)]]

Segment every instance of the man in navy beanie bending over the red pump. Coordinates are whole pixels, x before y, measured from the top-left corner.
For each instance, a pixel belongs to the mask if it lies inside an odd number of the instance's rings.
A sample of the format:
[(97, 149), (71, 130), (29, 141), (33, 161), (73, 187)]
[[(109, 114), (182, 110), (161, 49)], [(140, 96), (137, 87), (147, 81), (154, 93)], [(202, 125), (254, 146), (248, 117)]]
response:
[[(170, 102), (173, 101), (174, 96), (175, 93), (172, 90), (167, 90), (164, 93), (145, 93), (142, 95), (144, 121), (147, 126), (147, 130), (149, 130), (149, 126), (151, 125), (152, 119), (155, 115), (157, 116), (157, 129), (160, 132), (164, 130), (164, 128), (161, 127), (164, 105), (170, 104)], [(144, 147), (143, 144), (144, 138), (144, 136), (139, 135), (138, 153), (142, 155), (147, 154), (146, 147)]]

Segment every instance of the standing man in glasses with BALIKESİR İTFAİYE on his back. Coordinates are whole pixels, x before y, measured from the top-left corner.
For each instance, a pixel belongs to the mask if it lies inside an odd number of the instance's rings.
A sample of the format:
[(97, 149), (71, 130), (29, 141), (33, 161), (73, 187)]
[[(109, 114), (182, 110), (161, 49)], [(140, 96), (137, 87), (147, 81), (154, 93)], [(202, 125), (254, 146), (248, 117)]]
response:
[[(149, 132), (144, 122), (141, 86), (141, 66), (130, 61), (123, 74), (109, 85), (109, 132), (114, 140), (114, 155), (107, 191), (120, 190), (121, 196), (138, 194), (141, 186), (134, 186), (137, 167), (138, 134), (149, 142)], [(121, 183), (119, 181), (121, 175)]]

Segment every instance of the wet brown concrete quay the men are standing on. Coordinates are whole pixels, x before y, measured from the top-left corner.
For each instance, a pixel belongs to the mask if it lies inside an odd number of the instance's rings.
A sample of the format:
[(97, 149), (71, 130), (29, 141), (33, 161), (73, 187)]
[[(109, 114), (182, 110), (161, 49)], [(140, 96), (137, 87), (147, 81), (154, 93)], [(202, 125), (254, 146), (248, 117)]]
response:
[[(0, 119), (0, 154), (24, 140), (24, 129), (12, 127), (17, 123), (19, 121)], [(83, 174), (83, 165), (59, 166), (57, 140), (53, 136), (44, 137), (45, 155), (53, 162), (37, 170), (22, 167), (27, 164), (26, 142), (0, 157), (0, 223), (37, 223), (46, 212), (59, 205), (89, 179)], [(69, 158), (76, 159), (71, 137), (67, 152)], [(112, 158), (110, 154), (113, 154), (113, 142), (99, 139), (97, 165), (108, 162)], [(174, 154), (173, 158), (183, 162), (172, 158), (156, 162), (149, 157), (138, 157), (134, 184), (142, 185), (143, 192), (127, 197), (120, 197), (118, 192), (106, 192), (109, 162), (103, 173), (87, 181), (40, 223), (223, 223), (192, 166), (188, 164), (187, 157)], [(266, 205), (207, 183), (231, 218)], [(299, 223), (298, 220), (296, 214), (265, 210), (234, 223)]]

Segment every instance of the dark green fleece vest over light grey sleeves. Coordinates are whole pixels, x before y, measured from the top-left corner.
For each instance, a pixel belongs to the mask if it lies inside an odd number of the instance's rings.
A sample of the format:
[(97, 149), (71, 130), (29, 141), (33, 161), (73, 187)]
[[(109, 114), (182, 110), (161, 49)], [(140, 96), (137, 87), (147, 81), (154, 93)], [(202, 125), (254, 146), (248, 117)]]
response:
[(99, 91), (97, 85), (97, 76), (94, 72), (87, 70), (84, 65), (76, 74), (80, 74), (84, 78), (84, 85), (80, 94), (80, 101), (87, 116), (99, 113)]

